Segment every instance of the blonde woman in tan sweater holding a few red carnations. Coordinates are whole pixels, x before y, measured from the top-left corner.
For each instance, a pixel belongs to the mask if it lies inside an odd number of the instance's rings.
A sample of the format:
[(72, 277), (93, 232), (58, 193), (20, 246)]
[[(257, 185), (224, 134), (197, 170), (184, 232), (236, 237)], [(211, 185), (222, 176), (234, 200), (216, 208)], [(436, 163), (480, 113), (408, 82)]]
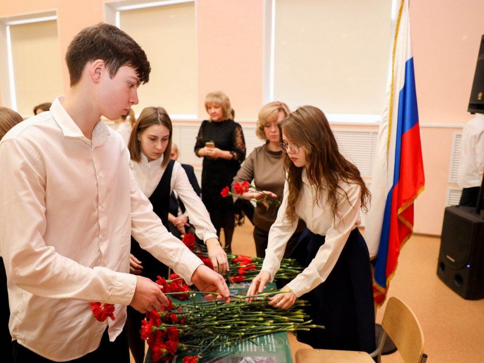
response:
[[(257, 136), (266, 143), (252, 151), (233, 178), (235, 182), (244, 180), (268, 196), (282, 200), (284, 189), (284, 173), (282, 171), (282, 150), (280, 148), (280, 124), (290, 113), (283, 102), (273, 101), (262, 107), (257, 120)], [(232, 187), (232, 193), (235, 190)], [(244, 199), (262, 200), (264, 195), (257, 192), (241, 194)], [(276, 220), (279, 207), (271, 204), (267, 209), (263, 203), (258, 203), (254, 212), (254, 241), (256, 243), (257, 257), (264, 257), (267, 248), (267, 238), (272, 223)], [(287, 257), (297, 242), (302, 230), (306, 227), (304, 222), (297, 225), (296, 231), (289, 239), (284, 257)]]

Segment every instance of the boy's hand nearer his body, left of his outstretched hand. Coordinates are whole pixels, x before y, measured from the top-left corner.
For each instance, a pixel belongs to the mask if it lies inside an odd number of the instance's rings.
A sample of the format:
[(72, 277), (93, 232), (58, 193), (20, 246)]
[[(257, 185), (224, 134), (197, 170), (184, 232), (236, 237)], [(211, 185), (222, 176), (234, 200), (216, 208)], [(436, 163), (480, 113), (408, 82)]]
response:
[(136, 276), (136, 289), (130, 306), (140, 313), (146, 313), (153, 309), (158, 311), (162, 304), (168, 306), (168, 298), (161, 292), (162, 289), (163, 286), (149, 278)]

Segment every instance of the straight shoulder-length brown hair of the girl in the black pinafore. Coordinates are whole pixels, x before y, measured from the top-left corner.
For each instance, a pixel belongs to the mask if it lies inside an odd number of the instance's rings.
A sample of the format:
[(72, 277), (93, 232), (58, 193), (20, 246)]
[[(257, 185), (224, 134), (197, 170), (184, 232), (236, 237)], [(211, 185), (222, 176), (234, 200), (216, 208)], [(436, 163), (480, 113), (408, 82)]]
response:
[(128, 143), (131, 160), (136, 162), (141, 161), (141, 142), (139, 138), (141, 137), (141, 134), (152, 125), (163, 125), (170, 131), (168, 145), (166, 145), (165, 152), (163, 153), (163, 162), (161, 163), (162, 166), (166, 166), (168, 161), (170, 161), (173, 128), (171, 126), (170, 116), (168, 116), (168, 113), (163, 107), (146, 107), (141, 111), (133, 130), (131, 130), (130, 142)]

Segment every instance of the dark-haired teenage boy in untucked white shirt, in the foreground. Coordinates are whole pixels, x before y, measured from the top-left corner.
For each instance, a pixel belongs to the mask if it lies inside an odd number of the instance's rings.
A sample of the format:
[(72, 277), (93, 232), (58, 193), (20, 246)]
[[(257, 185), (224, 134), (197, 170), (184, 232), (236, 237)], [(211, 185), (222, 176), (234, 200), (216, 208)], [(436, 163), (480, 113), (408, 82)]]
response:
[[(122, 30), (98, 24), (76, 35), (66, 62), (67, 97), (0, 143), (14, 358), (129, 362), (126, 306), (147, 312), (168, 303), (159, 285), (129, 274), (131, 234), (188, 283), (226, 301), (229, 291), (162, 225), (137, 187), (125, 142), (100, 120), (138, 103), (151, 71), (145, 52)], [(91, 301), (114, 304), (115, 320), (98, 322)]]

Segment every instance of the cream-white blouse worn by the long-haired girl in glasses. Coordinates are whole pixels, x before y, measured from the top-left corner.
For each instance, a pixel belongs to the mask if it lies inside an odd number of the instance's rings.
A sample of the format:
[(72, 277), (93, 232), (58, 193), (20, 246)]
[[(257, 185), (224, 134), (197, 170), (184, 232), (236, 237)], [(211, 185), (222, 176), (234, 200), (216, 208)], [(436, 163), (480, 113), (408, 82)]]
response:
[(323, 192), (322, 201), (315, 203), (316, 188), (309, 184), (306, 169), (304, 169), (302, 171), (302, 190), (296, 205), (297, 218), (291, 224), (291, 221), (285, 216), (289, 191), (287, 181), (284, 184), (284, 197), (277, 213), (277, 219), (269, 231), (262, 270), (270, 273), (271, 281), (274, 279), (275, 273), (279, 270), (287, 241), (296, 230), (299, 218), (306, 222), (310, 231), (326, 236), (324, 245), (319, 248), (309, 266), (287, 284), (297, 297), (311, 291), (326, 280), (343, 251), (349, 233), (360, 224), (360, 186), (348, 185), (343, 182), (339, 186), (347, 193), (349, 202), (344, 194), (337, 196), (337, 210), (340, 215), (334, 216), (327, 203), (327, 193)]

